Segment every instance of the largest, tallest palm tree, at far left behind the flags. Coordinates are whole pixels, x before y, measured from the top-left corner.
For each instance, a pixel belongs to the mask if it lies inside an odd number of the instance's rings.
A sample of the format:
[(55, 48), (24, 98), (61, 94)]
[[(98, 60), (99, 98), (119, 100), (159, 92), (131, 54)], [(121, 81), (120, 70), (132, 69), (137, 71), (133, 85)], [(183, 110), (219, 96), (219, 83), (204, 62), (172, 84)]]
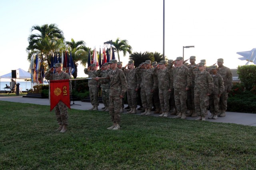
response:
[(50, 57), (52, 53), (63, 48), (63, 41), (63, 31), (60, 30), (56, 24), (32, 26), (31, 34), (28, 37), (29, 45), (26, 48), (26, 51), (28, 52), (28, 61), (30, 61), (33, 53), (39, 52), (41, 56), (44, 56), (44, 60), (47, 61), (48, 66), (50, 66)]

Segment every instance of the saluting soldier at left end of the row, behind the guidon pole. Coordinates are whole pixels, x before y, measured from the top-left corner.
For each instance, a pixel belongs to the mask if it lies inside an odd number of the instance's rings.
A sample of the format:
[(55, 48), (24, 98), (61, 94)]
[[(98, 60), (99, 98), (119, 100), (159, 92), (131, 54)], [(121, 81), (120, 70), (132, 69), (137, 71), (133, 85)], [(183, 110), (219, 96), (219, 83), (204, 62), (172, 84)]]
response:
[[(89, 68), (84, 68), (84, 73), (89, 75), (89, 78), (97, 77), (96, 64), (91, 64)], [(90, 100), (92, 104), (92, 108), (89, 110), (98, 110), (99, 106), (99, 87), (100, 84), (95, 80), (88, 80), (89, 92), (90, 92)]]

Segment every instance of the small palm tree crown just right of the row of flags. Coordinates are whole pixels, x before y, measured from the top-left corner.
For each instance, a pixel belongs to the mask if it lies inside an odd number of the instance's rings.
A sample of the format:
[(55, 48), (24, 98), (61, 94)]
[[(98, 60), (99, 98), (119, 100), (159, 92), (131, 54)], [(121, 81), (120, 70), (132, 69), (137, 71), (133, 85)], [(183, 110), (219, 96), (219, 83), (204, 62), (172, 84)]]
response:
[(122, 51), (124, 53), (124, 56), (126, 56), (126, 53), (132, 54), (132, 46), (128, 44), (128, 41), (126, 39), (120, 40), (119, 38), (116, 39), (116, 41), (113, 42), (114, 45), (114, 52), (117, 52), (118, 61), (120, 61), (119, 52)]

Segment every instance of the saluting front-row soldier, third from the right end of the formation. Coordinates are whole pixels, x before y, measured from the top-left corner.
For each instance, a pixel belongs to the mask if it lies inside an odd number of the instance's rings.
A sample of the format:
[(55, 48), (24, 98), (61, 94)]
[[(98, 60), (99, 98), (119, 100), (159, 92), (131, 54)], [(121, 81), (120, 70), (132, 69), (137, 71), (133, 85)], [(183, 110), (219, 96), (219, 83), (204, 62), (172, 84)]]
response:
[(207, 107), (209, 106), (209, 96), (214, 88), (212, 76), (205, 70), (204, 63), (198, 64), (199, 71), (195, 74), (195, 111), (199, 115), (196, 120), (205, 121), (207, 115)]

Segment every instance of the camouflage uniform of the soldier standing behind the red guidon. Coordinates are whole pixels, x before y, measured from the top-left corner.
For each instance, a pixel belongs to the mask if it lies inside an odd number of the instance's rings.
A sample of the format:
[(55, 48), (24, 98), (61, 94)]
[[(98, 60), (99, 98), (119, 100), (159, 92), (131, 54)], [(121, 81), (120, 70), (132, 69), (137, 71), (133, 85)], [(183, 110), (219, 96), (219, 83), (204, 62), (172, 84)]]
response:
[[(70, 75), (66, 72), (61, 72), (60, 74), (47, 71), (45, 73), (46, 80), (66, 80), (70, 79)], [(71, 94), (72, 92), (72, 84), (71, 81), (69, 81), (69, 92)], [(58, 104), (55, 106), (55, 114), (56, 119), (59, 125), (68, 125), (68, 108), (66, 104), (64, 104), (62, 101), (58, 102)]]

